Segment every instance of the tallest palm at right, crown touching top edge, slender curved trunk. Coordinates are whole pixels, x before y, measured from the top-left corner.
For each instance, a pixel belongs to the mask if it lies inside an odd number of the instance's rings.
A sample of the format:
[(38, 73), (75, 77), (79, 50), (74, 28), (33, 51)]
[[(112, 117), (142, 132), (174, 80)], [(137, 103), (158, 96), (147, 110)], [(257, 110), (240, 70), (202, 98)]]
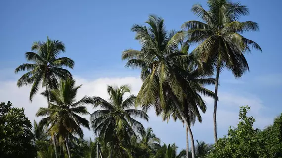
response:
[[(200, 4), (195, 4), (192, 11), (201, 21), (191, 20), (182, 27), (188, 29), (188, 40), (199, 43), (194, 49), (200, 61), (212, 63), (216, 70), (215, 98), (218, 93), (219, 74), (222, 69), (232, 71), (235, 78), (240, 78), (249, 66), (245, 52), (251, 52), (251, 47), (261, 51), (260, 46), (241, 35), (247, 31), (257, 31), (258, 24), (253, 21), (239, 22), (240, 16), (247, 15), (249, 9), (239, 2), (228, 0), (208, 0), (209, 10)], [(217, 143), (216, 128), (217, 99), (214, 101), (214, 139)]]

